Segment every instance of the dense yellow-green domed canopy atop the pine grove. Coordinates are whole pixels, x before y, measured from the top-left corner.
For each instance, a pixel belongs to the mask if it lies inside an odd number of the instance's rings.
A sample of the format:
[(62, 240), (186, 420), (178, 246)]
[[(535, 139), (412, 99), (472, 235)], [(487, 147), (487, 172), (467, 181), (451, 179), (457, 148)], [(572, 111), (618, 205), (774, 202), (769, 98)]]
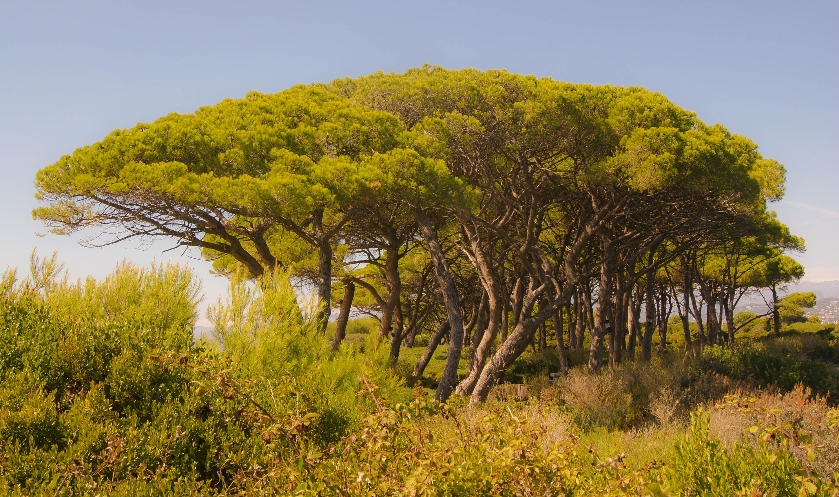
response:
[(783, 184), (751, 140), (659, 93), (425, 66), (116, 130), (39, 171), (34, 216), (111, 235), (97, 243), (173, 237), (258, 275), (282, 263), (279, 230), (322, 247), (408, 204), (544, 210), (618, 191), (757, 219)]

